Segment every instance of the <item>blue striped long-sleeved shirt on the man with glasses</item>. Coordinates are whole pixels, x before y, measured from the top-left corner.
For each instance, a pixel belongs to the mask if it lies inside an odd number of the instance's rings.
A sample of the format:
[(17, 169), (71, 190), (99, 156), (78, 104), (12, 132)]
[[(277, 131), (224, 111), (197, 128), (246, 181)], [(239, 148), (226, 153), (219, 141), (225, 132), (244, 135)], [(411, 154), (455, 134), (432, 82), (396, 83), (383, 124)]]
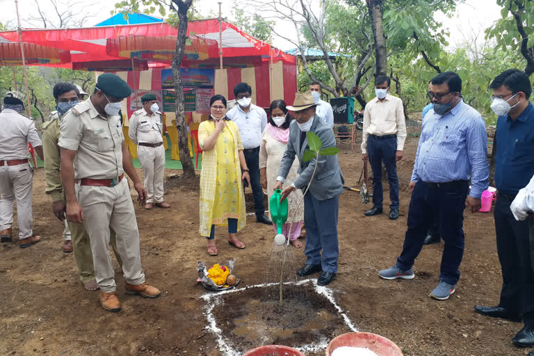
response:
[(430, 109), (423, 120), (412, 181), (471, 179), (469, 195), (479, 199), (488, 177), (487, 133), (480, 113), (461, 99), (445, 115)]

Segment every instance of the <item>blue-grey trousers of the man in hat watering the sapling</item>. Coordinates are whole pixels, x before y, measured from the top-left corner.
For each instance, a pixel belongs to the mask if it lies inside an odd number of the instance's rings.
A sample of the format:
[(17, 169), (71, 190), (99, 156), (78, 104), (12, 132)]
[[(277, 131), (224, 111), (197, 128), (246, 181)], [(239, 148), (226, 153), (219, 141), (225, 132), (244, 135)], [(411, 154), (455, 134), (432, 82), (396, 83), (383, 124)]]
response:
[(338, 211), (339, 195), (327, 200), (316, 200), (312, 194), (304, 197), (306, 264), (321, 264), (325, 272), (331, 273), (337, 273), (337, 258), (339, 257)]

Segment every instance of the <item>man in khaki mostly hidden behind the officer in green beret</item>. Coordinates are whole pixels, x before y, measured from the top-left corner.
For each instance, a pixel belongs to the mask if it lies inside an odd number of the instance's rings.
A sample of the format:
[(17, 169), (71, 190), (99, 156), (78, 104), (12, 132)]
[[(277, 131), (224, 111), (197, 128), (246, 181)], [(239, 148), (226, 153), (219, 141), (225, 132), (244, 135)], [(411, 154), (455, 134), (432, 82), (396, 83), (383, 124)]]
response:
[[(52, 198), (52, 211), (56, 218), (65, 221), (65, 243), (63, 244), (64, 252), (74, 250), (74, 258), (78, 265), (80, 279), (83, 287), (88, 291), (98, 289), (95, 280), (95, 269), (92, 265), (91, 245), (89, 235), (83, 224), (69, 223), (65, 219), (65, 195), (61, 178), (59, 174), (60, 155), (59, 155), (59, 123), (63, 115), (67, 113), (80, 101), (80, 94), (77, 87), (71, 83), (58, 83), (54, 86), (54, 99), (56, 99), (57, 111), (51, 114), (51, 120), (42, 125), (42, 150), (44, 153), (44, 177), (47, 181), (46, 193)], [(71, 242), (72, 238), (72, 242)], [(115, 257), (122, 266), (122, 260), (117, 253), (115, 244), (115, 232), (111, 231), (111, 246), (115, 251)]]

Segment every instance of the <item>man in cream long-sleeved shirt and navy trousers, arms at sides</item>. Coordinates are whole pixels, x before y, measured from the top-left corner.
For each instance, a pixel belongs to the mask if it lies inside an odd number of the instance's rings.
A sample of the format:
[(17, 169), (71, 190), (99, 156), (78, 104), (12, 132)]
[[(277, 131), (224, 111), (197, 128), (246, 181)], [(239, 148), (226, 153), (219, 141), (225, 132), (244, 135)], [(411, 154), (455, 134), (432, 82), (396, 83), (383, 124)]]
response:
[(397, 161), (403, 158), (406, 140), (403, 101), (389, 95), (389, 76), (379, 75), (375, 79), (376, 97), (367, 103), (362, 131), (362, 159), (371, 163), (373, 170), (373, 209), (365, 216), (382, 213), (382, 161), (386, 165), (389, 181), (389, 219), (398, 218), (398, 176)]

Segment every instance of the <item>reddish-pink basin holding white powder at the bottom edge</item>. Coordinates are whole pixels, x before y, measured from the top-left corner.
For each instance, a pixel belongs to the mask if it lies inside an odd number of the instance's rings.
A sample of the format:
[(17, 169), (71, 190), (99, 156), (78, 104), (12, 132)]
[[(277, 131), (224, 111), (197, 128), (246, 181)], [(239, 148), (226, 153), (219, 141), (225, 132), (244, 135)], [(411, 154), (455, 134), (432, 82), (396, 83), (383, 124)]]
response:
[(403, 356), (401, 349), (393, 341), (371, 332), (348, 332), (339, 335), (328, 343), (325, 355), (332, 355), (334, 350), (341, 346), (369, 348), (378, 356)]

